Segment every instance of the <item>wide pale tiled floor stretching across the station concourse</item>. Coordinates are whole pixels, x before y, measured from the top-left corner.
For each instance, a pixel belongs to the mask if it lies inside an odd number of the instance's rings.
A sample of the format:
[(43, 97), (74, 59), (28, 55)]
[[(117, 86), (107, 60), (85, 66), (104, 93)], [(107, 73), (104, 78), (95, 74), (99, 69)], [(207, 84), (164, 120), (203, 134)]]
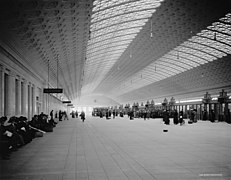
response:
[(1, 180), (230, 180), (231, 125), (70, 119), (0, 160), (0, 168)]

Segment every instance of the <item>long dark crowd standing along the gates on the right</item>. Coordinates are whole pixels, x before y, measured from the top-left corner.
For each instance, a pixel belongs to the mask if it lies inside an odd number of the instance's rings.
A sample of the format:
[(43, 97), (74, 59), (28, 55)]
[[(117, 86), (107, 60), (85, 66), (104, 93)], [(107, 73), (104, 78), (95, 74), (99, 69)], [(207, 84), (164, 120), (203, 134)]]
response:
[[(181, 113), (181, 115), (180, 115)], [(119, 109), (113, 109), (113, 108), (106, 108), (106, 107), (99, 107), (94, 108), (92, 111), (92, 116), (99, 116), (100, 118), (106, 117), (106, 119), (110, 119), (113, 115), (113, 118), (116, 116), (124, 117), (124, 115), (128, 115), (131, 120), (134, 118), (144, 118), (144, 120), (152, 118), (174, 118), (174, 124), (182, 124), (182, 119), (189, 119), (189, 123), (196, 123), (198, 119), (204, 120), (204, 121), (226, 121), (227, 123), (231, 123), (231, 115), (230, 110), (227, 109), (226, 112), (223, 114), (218, 114), (218, 111), (214, 109), (210, 109), (207, 111), (206, 109), (198, 110), (190, 108), (188, 110), (176, 110), (171, 108), (119, 108)], [(182, 118), (180, 118), (182, 116)], [(178, 120), (177, 120), (178, 119)], [(180, 123), (182, 121), (182, 123)], [(166, 121), (167, 122), (167, 121)], [(168, 122), (167, 122), (168, 123)]]

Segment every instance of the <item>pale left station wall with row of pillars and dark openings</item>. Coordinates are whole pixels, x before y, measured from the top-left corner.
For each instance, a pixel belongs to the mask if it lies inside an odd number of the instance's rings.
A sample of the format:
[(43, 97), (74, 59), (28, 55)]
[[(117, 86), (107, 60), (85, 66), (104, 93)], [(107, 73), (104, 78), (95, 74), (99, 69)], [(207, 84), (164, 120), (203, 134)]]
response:
[(43, 93), (45, 85), (46, 80), (0, 48), (0, 117), (25, 116), (31, 120), (41, 112), (67, 110), (58, 97)]

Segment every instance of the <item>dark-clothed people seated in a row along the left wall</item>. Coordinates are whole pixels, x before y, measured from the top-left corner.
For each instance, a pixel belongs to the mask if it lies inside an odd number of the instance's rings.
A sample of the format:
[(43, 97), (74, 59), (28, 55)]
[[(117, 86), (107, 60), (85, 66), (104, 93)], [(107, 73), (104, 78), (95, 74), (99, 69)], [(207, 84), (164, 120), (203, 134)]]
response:
[(0, 118), (0, 154), (2, 159), (10, 159), (10, 154), (20, 147), (30, 143), (36, 137), (42, 137), (46, 132), (53, 132), (58, 121), (68, 120), (65, 111), (59, 111), (50, 116), (43, 112), (34, 115), (31, 120), (24, 116)]

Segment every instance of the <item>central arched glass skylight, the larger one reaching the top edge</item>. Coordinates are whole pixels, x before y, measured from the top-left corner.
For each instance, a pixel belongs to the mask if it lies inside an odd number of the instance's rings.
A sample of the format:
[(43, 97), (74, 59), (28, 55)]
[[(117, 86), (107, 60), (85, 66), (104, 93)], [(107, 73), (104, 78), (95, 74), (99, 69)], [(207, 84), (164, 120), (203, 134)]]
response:
[(94, 1), (82, 92), (98, 86), (162, 1)]

